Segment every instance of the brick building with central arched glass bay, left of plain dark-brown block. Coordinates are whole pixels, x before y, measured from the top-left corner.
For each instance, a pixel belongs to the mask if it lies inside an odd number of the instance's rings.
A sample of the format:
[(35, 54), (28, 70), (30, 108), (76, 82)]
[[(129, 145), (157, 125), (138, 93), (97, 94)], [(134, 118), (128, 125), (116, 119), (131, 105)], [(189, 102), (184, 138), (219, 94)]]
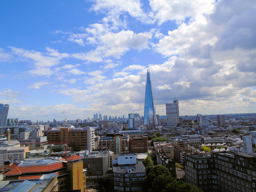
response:
[(107, 134), (100, 137), (100, 151), (110, 150), (114, 154), (129, 153), (129, 136), (124, 134)]

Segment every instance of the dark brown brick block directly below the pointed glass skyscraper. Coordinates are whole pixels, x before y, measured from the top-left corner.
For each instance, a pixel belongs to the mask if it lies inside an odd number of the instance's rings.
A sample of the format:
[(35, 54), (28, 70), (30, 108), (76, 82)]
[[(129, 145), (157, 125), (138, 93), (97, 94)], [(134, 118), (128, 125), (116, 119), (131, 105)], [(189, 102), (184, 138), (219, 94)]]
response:
[(148, 137), (130, 138), (130, 153), (146, 153), (148, 152)]

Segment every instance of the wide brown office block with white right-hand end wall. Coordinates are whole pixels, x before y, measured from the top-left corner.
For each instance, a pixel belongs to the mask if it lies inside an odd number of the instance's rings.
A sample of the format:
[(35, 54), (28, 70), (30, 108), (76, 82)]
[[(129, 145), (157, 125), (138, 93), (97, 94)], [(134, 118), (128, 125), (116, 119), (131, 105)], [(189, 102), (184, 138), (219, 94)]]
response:
[(47, 132), (48, 142), (69, 143), (75, 151), (94, 149), (94, 130), (92, 127), (74, 128), (74, 126), (52, 128)]

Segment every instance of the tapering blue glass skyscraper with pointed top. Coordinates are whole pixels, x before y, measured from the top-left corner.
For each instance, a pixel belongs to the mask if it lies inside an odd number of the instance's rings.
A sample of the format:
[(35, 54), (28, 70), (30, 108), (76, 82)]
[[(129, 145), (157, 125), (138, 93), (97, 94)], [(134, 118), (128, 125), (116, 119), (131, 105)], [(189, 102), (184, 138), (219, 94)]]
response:
[(156, 127), (158, 125), (156, 119), (156, 111), (154, 108), (154, 97), (150, 81), (149, 69), (147, 72), (145, 105), (144, 105), (144, 125), (148, 127)]

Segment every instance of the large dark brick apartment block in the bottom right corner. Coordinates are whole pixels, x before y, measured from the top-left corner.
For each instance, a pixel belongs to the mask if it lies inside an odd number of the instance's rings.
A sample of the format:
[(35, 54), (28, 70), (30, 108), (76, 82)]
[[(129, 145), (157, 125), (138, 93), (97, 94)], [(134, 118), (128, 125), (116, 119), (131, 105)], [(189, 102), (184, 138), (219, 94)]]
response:
[(186, 182), (204, 192), (254, 192), (256, 158), (234, 152), (186, 155)]

